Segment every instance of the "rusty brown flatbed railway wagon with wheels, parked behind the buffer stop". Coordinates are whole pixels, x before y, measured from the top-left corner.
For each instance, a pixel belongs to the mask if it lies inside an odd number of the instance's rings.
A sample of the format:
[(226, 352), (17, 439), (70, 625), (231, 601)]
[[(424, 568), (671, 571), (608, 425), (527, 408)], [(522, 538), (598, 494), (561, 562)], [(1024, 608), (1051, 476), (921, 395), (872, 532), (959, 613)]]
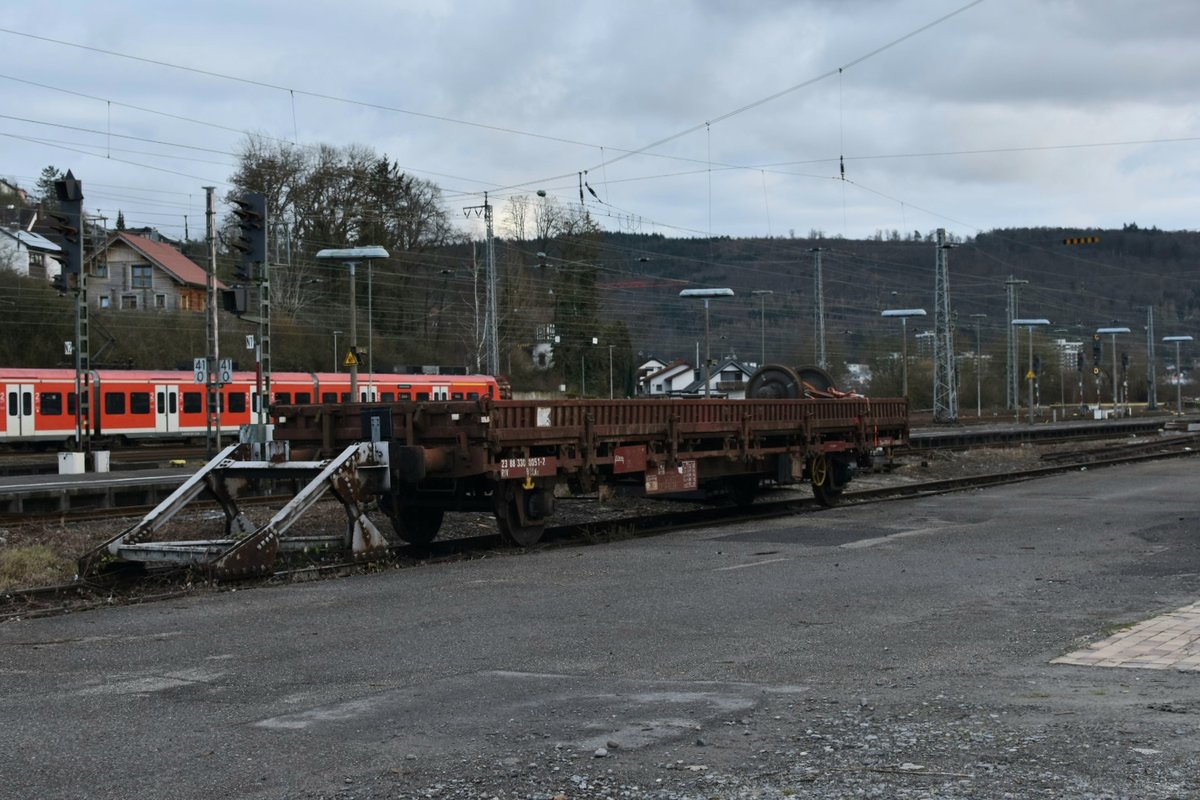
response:
[[(768, 392), (769, 393), (769, 392)], [(379, 507), (397, 535), (432, 541), (444, 515), (491, 511), (535, 543), (564, 491), (721, 493), (809, 481), (833, 505), (857, 468), (908, 437), (904, 398), (493, 401), (278, 407), (292, 457), (386, 443)]]

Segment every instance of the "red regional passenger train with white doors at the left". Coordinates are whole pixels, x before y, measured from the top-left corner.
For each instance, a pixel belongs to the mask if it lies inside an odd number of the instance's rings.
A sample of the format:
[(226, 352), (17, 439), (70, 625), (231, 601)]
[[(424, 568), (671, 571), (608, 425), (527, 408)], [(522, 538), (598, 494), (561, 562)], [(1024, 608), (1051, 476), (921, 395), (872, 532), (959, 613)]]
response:
[[(94, 369), (90, 373), (94, 438), (112, 443), (190, 439), (206, 432), (204, 386), (191, 372)], [(73, 369), (0, 368), (0, 444), (52, 446), (76, 435)], [(469, 401), (502, 398), (508, 385), (491, 375), (359, 374), (359, 402)], [(253, 372), (234, 372), (221, 387), (221, 431), (236, 434), (258, 416)], [(344, 372), (271, 373), (275, 404), (350, 402), (350, 375)]]

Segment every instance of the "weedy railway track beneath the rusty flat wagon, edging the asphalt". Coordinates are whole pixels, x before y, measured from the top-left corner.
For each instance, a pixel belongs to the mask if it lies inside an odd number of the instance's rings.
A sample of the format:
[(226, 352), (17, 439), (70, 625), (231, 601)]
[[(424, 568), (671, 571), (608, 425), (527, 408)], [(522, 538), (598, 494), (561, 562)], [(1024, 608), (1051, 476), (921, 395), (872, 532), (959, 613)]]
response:
[[(1018, 483), (1080, 468), (1104, 468), (1135, 464), (1163, 458), (1195, 456), (1196, 435), (1176, 437), (1153, 445), (1132, 446), (1123, 443), (1109, 447), (1088, 449), (1074, 453), (1054, 453), (1044, 467), (964, 475), (952, 479), (895, 483), (875, 488), (847, 491), (842, 504), (883, 503), (931, 494), (961, 492), (988, 486)], [(1074, 458), (1068, 458), (1068, 456)], [(791, 495), (780, 498), (779, 495)], [(739, 522), (770, 519), (797, 513), (822, 511), (822, 506), (810, 497), (797, 497), (797, 492), (768, 493), (750, 506), (712, 506), (696, 504), (679, 509), (679, 503), (660, 513), (643, 513), (636, 517), (605, 518), (547, 528), (538, 548), (577, 547), (606, 541), (650, 537), (679, 529), (728, 525)], [(264, 499), (269, 501), (269, 499)], [(259, 578), (238, 581), (209, 581), (202, 573), (185, 567), (152, 569), (142, 571), (125, 564), (118, 569), (95, 576), (88, 581), (67, 584), (10, 590), (0, 594), (0, 622), (11, 619), (71, 613), (112, 606), (116, 603), (154, 602), (200, 591), (220, 590), (223, 587), (252, 587), (323, 579), (382, 569), (407, 569), (418, 565), (451, 563), (464, 558), (511, 555), (524, 548), (505, 543), (494, 529), (488, 533), (460, 535), (437, 540), (425, 546), (397, 545), (382, 560), (364, 563), (325, 554), (296, 557), (283, 569)]]

